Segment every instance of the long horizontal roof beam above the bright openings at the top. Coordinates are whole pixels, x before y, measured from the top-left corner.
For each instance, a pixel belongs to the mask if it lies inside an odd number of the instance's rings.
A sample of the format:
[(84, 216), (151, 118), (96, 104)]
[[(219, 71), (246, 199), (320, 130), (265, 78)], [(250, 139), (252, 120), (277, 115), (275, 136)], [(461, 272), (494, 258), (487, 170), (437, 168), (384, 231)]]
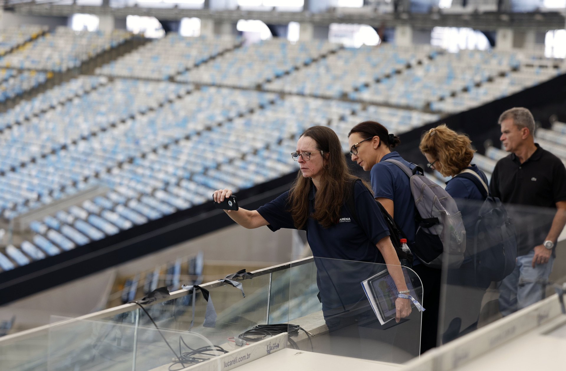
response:
[(117, 18), (126, 18), (128, 15), (151, 15), (158, 19), (179, 20), (181, 18), (212, 19), (214, 21), (233, 21), (239, 19), (259, 19), (266, 24), (286, 24), (290, 21), (311, 23), (314, 25), (329, 25), (331, 23), (362, 23), (372, 27), (396, 27), (398, 25), (411, 25), (415, 28), (443, 27), (470, 27), (482, 31), (495, 31), (498, 28), (518, 30), (547, 31), (549, 29), (562, 29), (566, 26), (566, 17), (559, 12), (531, 12), (531, 13), (497, 13), (486, 12), (482, 14), (375, 14), (360, 12), (355, 14), (341, 14), (338, 12), (324, 12), (313, 14), (310, 12), (267, 12), (243, 10), (209, 10), (209, 9), (179, 9), (179, 8), (144, 8), (123, 7), (109, 8), (106, 6), (79, 6), (19, 3), (10, 7), (17, 14), (38, 16), (69, 16), (75, 13), (96, 15), (114, 15)]

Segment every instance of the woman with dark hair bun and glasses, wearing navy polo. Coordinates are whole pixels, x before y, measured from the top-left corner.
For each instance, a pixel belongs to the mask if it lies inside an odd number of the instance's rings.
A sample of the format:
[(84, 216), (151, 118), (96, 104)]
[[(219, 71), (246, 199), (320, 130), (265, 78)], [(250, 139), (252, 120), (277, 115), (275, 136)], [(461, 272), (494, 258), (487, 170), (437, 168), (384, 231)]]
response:
[[(351, 160), (365, 171), (370, 171), (371, 188), (376, 201), (384, 206), (397, 226), (404, 232), (409, 248), (415, 242), (417, 222), (415, 201), (411, 193), (409, 177), (395, 163), (397, 160), (415, 168), (414, 163), (405, 161), (397, 152), (391, 152), (401, 140), (389, 133), (387, 128), (375, 121), (364, 121), (348, 133)], [(413, 270), (423, 285), (421, 353), (436, 346), (438, 313), (440, 302), (440, 269), (429, 268), (413, 254)]]

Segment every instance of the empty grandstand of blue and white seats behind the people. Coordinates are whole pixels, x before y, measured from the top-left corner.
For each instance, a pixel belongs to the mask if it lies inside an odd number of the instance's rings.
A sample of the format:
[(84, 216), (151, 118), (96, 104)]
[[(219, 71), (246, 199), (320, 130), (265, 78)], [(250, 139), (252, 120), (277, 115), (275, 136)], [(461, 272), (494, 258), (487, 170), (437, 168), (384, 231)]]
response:
[[(20, 29), (36, 40), (0, 64), (65, 71), (131, 37), (62, 27), (37, 37), (38, 29)], [(346, 152), (346, 135), (362, 120), (397, 134), (418, 130), (563, 68), (525, 51), (355, 49), (275, 38), (243, 45), (169, 34), (96, 68), (100, 77), (77, 76), (1, 115), (2, 217), (11, 234), (2, 269), (203, 204), (218, 187), (246, 189), (289, 174), (297, 135), (314, 124), (333, 128)], [(7, 69), (3, 76), (9, 99), (10, 88), (33, 89), (47, 75)], [(494, 162), (481, 154), (477, 161), (491, 172)], [(93, 189), (77, 204), (61, 202)]]

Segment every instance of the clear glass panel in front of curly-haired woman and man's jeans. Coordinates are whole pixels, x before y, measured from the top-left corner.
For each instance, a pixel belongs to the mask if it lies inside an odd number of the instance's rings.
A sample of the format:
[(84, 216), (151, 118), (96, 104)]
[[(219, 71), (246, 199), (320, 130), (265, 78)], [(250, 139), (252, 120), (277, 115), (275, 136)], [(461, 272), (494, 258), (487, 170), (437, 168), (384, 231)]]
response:
[(556, 264), (554, 251), (542, 250), (549, 262), (533, 261), (555, 209), (456, 201), (466, 243), (461, 264), (448, 256), (457, 251), (457, 243), (444, 246), (437, 344), (544, 299), (553, 292), (551, 277), (566, 275), (566, 265)]

